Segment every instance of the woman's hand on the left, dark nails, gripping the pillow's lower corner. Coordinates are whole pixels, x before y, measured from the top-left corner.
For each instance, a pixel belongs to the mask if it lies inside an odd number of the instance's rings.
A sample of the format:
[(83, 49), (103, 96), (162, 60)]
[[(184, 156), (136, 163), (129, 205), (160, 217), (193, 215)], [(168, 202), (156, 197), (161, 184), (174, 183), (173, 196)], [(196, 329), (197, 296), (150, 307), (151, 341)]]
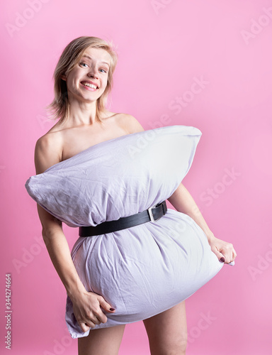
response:
[(97, 293), (81, 292), (78, 293), (76, 297), (71, 298), (71, 300), (73, 303), (74, 316), (83, 332), (94, 328), (96, 324), (107, 322), (108, 318), (102, 312), (101, 307), (103, 307), (106, 312), (115, 312), (111, 305)]

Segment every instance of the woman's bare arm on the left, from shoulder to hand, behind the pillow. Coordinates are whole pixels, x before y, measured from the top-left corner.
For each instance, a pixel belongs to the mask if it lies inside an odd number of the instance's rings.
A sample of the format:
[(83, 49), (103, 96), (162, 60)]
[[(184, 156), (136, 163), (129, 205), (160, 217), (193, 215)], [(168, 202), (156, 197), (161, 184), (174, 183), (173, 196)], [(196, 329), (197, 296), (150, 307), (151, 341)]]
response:
[[(60, 162), (61, 153), (54, 142), (42, 137), (35, 147), (36, 173), (40, 174), (47, 168)], [(110, 311), (111, 305), (101, 295), (89, 293), (81, 283), (79, 275), (72, 261), (67, 239), (62, 230), (62, 222), (53, 217), (38, 205), (38, 214), (42, 224), (42, 238), (50, 255), (51, 261), (72, 300), (74, 315), (81, 329), (86, 332), (90, 327), (107, 321), (100, 305)], [(89, 325), (88, 325), (89, 324)]]

